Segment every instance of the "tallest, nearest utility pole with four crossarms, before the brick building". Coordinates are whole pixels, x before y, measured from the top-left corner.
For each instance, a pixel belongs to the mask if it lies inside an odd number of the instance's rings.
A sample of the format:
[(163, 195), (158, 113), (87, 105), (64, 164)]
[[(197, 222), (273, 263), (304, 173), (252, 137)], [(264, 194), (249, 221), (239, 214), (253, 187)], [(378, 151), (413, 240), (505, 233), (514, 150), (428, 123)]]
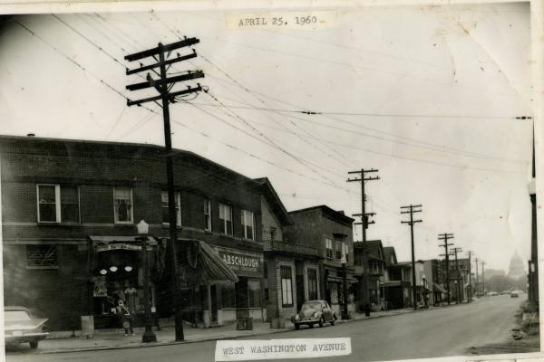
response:
[[(175, 281), (173, 282), (172, 288), (175, 289), (173, 293), (173, 302), (174, 302), (174, 310), (175, 310), (175, 330), (176, 330), (176, 340), (181, 341), (184, 340), (183, 336), (183, 314), (182, 314), (182, 308), (181, 308), (181, 286), (182, 281), (180, 278), (180, 273), (178, 271), (178, 261), (176, 256), (176, 245), (178, 243), (178, 234), (177, 234), (177, 223), (176, 223), (176, 203), (175, 203), (175, 195), (174, 195), (174, 163), (173, 163), (173, 154), (172, 154), (172, 143), (171, 143), (171, 132), (170, 132), (170, 109), (169, 104), (176, 102), (176, 97), (182, 97), (184, 95), (187, 95), (189, 93), (194, 93), (197, 91), (202, 90), (200, 87), (200, 84), (198, 84), (198, 87), (191, 88), (190, 86), (187, 86), (186, 90), (178, 90), (178, 91), (170, 91), (174, 85), (179, 81), (189, 81), (194, 80), (198, 78), (204, 78), (204, 73), (202, 71), (188, 71), (187, 74), (183, 74), (176, 77), (170, 77), (168, 78), (167, 71), (170, 69), (171, 64), (176, 62), (182, 62), (186, 61), (191, 58), (195, 58), (197, 56), (197, 53), (193, 49), (192, 54), (180, 56), (180, 53), (177, 53), (177, 57), (166, 60), (165, 59), (165, 53), (168, 53), (166, 55), (166, 58), (170, 57), (170, 54), (172, 51), (184, 47), (188, 47), (191, 45), (194, 45), (196, 43), (200, 43), (199, 39), (196, 38), (185, 38), (185, 40), (182, 40), (177, 43), (171, 43), (168, 45), (162, 45), (162, 43), (159, 43), (157, 48), (153, 48), (144, 52), (137, 52), (131, 55), (127, 55), (124, 57), (126, 61), (134, 62), (138, 61), (144, 58), (152, 57), (156, 63), (143, 66), (143, 64), (140, 63), (140, 68), (136, 68), (134, 70), (127, 69), (126, 74), (131, 75), (138, 73), (140, 71), (153, 71), (155, 74), (157, 74), (160, 78), (158, 80), (154, 80), (151, 77), (151, 73), (148, 72), (147, 74), (147, 81), (131, 84), (126, 87), (127, 90), (143, 90), (146, 88), (154, 88), (159, 92), (160, 95), (142, 99), (142, 100), (127, 100), (127, 105), (133, 106), (137, 105), (140, 106), (141, 103), (146, 103), (153, 101), (157, 103), (162, 108), (162, 116), (164, 119), (164, 148), (165, 148), (165, 157), (166, 157), (166, 177), (167, 177), (167, 183), (168, 183), (168, 208), (169, 208), (169, 222), (170, 222), (170, 242), (169, 245), (169, 252), (170, 255), (172, 255), (173, 258), (173, 264), (174, 264), (174, 272), (173, 276), (175, 278)], [(159, 59), (157, 59), (157, 55), (159, 56)], [(168, 66), (168, 68), (167, 68)], [(160, 72), (155, 71), (155, 68), (159, 68)], [(158, 100), (161, 101), (162, 104), (158, 102)]]

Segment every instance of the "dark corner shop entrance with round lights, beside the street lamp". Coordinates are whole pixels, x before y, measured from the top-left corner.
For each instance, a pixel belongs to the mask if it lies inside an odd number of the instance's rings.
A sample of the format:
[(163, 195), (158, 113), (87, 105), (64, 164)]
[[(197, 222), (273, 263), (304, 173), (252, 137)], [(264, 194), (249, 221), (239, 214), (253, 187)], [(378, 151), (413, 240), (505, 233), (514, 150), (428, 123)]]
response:
[[(88, 236), (91, 300), (87, 300), (94, 329), (121, 329), (121, 303), (131, 311), (134, 327), (144, 325), (141, 241), (128, 236)], [(152, 324), (158, 326), (155, 283), (164, 270), (166, 245), (152, 237), (147, 241), (149, 296)]]

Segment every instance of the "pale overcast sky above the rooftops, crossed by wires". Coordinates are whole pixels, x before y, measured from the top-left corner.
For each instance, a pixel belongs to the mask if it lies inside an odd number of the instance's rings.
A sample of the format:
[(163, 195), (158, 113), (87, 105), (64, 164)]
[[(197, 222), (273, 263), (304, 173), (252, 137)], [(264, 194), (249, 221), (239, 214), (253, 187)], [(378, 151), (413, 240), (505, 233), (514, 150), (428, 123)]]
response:
[(208, 92), (170, 106), (174, 148), (268, 177), (287, 211), (359, 214), (348, 172), (378, 169), (367, 239), (399, 261), (405, 205), (423, 205), (417, 260), (440, 257), (439, 233), (486, 268), (528, 260), (529, 4), (333, 10), (340, 28), (322, 31), (226, 30), (225, 11), (16, 16), (0, 25), (0, 133), (164, 145), (160, 107), (126, 105), (157, 93), (125, 89), (143, 80), (123, 57), (196, 37), (169, 72), (204, 71)]

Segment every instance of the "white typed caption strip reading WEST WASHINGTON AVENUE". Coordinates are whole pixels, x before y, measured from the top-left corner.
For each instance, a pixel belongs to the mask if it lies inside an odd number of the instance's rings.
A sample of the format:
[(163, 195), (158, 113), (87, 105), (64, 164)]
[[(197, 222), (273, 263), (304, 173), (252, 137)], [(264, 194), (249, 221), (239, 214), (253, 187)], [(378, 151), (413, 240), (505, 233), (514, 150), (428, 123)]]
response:
[(351, 354), (351, 338), (218, 340), (216, 361), (314, 358)]

